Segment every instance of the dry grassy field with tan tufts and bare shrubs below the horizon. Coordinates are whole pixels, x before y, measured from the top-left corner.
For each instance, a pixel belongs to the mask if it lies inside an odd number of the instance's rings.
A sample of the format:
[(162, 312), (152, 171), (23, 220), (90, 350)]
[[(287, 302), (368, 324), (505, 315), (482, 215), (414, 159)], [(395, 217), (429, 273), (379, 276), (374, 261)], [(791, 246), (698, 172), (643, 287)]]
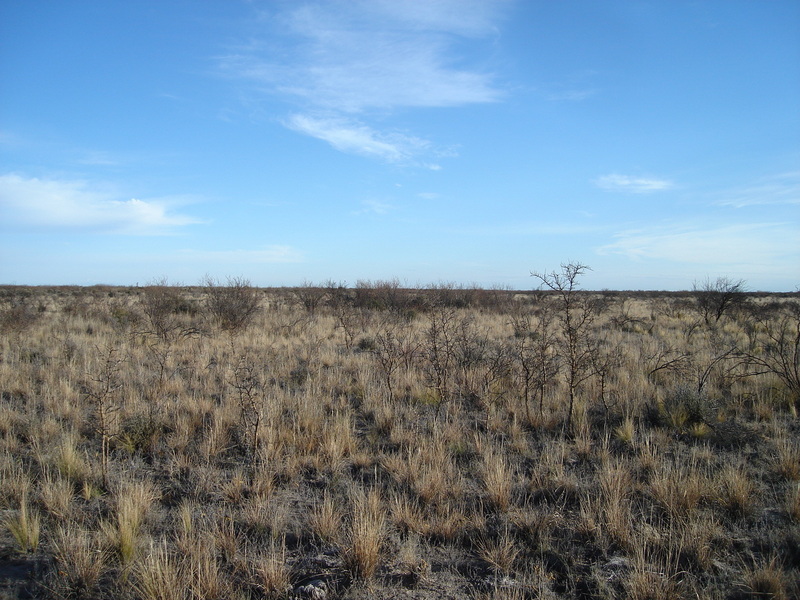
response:
[(0, 288), (0, 597), (800, 597), (800, 297)]

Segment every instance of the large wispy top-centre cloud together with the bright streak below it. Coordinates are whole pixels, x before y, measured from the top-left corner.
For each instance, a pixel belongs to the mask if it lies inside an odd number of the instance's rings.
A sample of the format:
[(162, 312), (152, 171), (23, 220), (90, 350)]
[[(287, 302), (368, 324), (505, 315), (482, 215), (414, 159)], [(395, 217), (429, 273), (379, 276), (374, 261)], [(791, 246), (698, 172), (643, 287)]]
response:
[[(262, 22), (289, 36), (291, 52), (285, 48), (276, 52), (269, 36), (264, 36), (220, 57), (219, 64), (224, 72), (251, 82), (260, 92), (277, 94), (302, 107), (302, 114), (284, 121), (288, 127), (325, 140), (342, 152), (409, 162), (409, 154), (428, 151), (429, 142), (406, 134), (378, 133), (365, 119), (396, 109), (500, 100), (503, 92), (492, 74), (465, 66), (457, 48), (465, 39), (495, 34), (506, 3), (286, 4), (283, 12), (265, 13)], [(276, 60), (276, 56), (281, 58)], [(314, 116), (320, 111), (328, 116)]]

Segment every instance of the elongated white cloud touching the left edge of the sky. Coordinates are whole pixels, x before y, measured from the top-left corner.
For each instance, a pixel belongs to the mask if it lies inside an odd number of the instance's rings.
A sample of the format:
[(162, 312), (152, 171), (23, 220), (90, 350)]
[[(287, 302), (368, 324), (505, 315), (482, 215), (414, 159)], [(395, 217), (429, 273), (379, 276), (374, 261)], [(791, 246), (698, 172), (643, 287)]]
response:
[(200, 222), (173, 212), (169, 199), (121, 200), (101, 185), (13, 173), (0, 175), (0, 216), (6, 226), (135, 235), (163, 234)]

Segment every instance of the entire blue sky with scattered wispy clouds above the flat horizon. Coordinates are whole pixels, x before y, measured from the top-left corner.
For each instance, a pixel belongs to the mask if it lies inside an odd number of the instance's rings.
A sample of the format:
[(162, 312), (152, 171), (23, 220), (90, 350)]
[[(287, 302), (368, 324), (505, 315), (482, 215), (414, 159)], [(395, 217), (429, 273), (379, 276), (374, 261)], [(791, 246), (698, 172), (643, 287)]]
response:
[(0, 283), (800, 286), (800, 2), (0, 3)]

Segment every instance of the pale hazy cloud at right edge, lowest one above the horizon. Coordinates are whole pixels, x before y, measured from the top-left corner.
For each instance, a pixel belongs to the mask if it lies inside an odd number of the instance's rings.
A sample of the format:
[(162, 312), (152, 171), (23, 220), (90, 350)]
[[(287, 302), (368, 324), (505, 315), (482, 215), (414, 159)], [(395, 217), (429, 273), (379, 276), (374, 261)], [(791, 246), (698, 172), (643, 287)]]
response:
[[(694, 224), (623, 231), (600, 254), (634, 260), (713, 265), (792, 264), (800, 254), (800, 231), (791, 223)], [(796, 264), (796, 263), (795, 263)]]

